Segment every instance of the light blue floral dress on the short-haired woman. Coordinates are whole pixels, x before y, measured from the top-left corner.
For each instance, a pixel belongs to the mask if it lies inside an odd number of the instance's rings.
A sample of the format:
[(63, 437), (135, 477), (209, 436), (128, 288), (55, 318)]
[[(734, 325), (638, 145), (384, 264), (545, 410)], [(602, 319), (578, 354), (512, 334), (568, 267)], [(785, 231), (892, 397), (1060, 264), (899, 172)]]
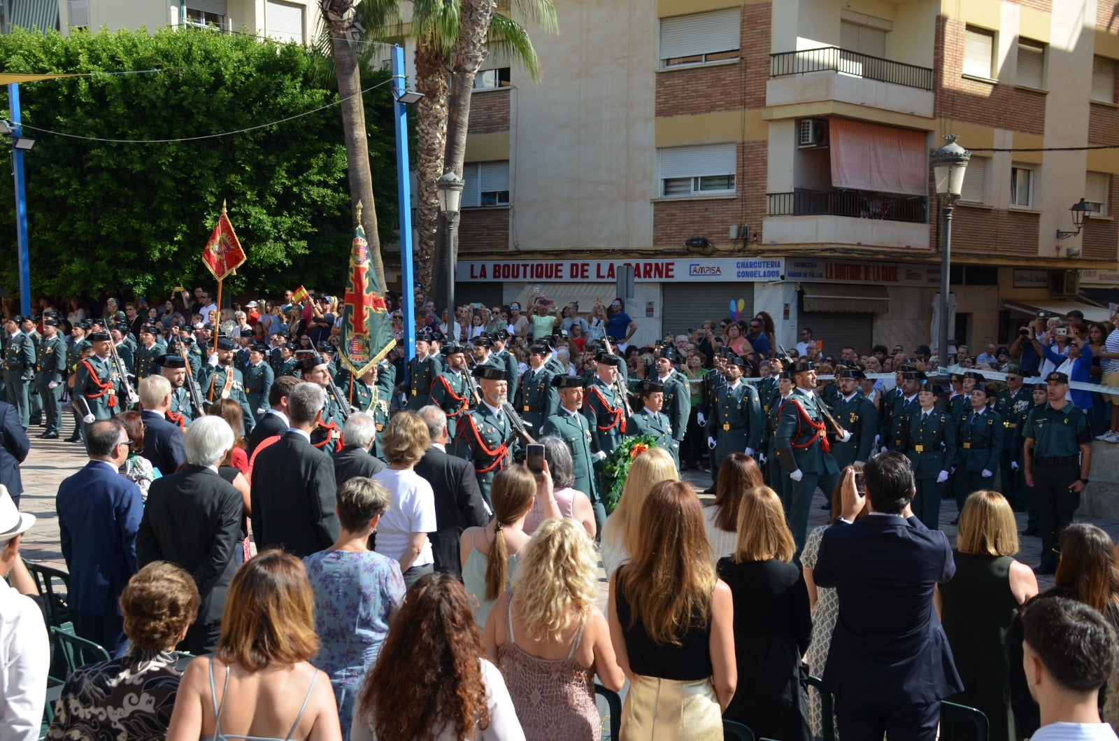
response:
[(349, 739), (354, 700), (380, 654), (388, 616), (404, 601), (401, 565), (373, 551), (320, 551), (303, 559), (314, 588), (319, 653), (311, 664), (330, 677), (342, 738)]

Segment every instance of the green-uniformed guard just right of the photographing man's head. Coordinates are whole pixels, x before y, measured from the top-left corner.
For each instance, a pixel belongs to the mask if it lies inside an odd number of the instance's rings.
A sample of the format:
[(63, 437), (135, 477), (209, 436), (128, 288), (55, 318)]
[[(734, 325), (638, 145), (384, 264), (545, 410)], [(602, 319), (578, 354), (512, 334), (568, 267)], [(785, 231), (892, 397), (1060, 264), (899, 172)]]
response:
[(940, 527), (940, 499), (944, 482), (956, 460), (956, 422), (949, 412), (937, 409), (940, 390), (921, 372), (908, 370), (910, 379), (921, 385), (919, 406), (905, 419), (901, 451), (910, 459), (916, 496), (913, 514), (930, 529)]

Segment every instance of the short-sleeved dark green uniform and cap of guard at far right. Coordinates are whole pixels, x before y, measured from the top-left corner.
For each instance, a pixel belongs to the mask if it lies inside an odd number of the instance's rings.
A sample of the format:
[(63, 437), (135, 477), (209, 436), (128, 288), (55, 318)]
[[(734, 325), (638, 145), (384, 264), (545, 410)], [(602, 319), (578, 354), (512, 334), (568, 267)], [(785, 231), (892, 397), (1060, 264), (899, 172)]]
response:
[[(1054, 370), (1046, 382), (1069, 383), (1069, 376)], [(1088, 418), (1072, 402), (1061, 409), (1052, 403), (1035, 407), (1026, 419), (1025, 438), (1033, 440), (1029, 472), (1034, 478), (1034, 503), (1037, 507), (1037, 529), (1042, 538), (1041, 570), (1055, 568), (1053, 552), (1061, 532), (1072, 522), (1080, 506), (1080, 494), (1070, 487), (1081, 479), (1081, 445), (1090, 445)]]

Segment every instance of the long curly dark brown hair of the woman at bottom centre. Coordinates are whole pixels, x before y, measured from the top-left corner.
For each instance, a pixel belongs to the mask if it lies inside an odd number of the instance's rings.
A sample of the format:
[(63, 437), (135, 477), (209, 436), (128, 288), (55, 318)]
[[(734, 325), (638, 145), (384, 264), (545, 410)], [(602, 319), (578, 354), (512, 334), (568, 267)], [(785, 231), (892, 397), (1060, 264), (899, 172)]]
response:
[(380, 741), (427, 739), (444, 723), (455, 739), (476, 738), (490, 724), (482, 656), (462, 582), (425, 574), (404, 595), (361, 685), (355, 717)]

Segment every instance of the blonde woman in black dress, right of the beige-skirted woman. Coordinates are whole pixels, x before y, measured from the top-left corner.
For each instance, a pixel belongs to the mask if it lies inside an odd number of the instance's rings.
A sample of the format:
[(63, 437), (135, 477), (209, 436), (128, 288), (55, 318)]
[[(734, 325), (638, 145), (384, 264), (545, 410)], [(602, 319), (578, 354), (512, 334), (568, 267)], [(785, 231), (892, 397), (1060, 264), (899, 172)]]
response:
[(739, 503), (739, 545), (720, 560), (718, 578), (734, 601), (739, 688), (723, 717), (756, 738), (808, 741), (807, 669), (812, 637), (805, 578), (791, 563), (796, 544), (773, 489), (758, 486)]

